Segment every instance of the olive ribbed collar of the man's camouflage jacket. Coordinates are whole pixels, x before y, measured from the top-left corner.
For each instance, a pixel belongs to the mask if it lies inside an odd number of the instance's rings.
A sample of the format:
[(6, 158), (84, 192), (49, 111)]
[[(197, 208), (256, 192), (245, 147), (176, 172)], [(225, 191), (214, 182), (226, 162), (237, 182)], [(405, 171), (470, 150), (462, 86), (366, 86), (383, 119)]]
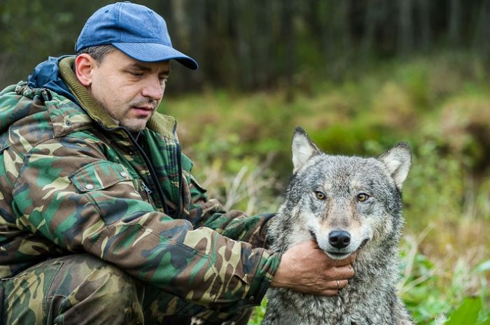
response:
[[(90, 92), (78, 81), (75, 73), (73, 72), (73, 64), (75, 63), (75, 57), (66, 57), (59, 62), (59, 73), (64, 80), (66, 87), (70, 90), (71, 94), (76, 97), (80, 106), (87, 112), (92, 120), (95, 120), (102, 127), (106, 129), (113, 129), (119, 127), (116, 121), (113, 120), (111, 115), (107, 113), (106, 109), (97, 102)], [(176, 139), (176, 121), (174, 117), (168, 115), (162, 115), (155, 112), (151, 119), (146, 124), (146, 128), (151, 129), (157, 133), (162, 134), (166, 138), (173, 140)]]

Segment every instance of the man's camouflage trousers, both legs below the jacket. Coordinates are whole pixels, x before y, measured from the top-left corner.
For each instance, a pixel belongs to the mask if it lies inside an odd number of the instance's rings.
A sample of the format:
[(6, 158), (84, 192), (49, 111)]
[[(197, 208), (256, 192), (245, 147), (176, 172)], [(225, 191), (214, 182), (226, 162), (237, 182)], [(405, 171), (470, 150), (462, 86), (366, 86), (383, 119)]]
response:
[(222, 324), (235, 321), (243, 312), (233, 305), (214, 311), (189, 303), (90, 254), (50, 259), (2, 283), (5, 316), (0, 324), (5, 325), (182, 325), (191, 315), (208, 324)]

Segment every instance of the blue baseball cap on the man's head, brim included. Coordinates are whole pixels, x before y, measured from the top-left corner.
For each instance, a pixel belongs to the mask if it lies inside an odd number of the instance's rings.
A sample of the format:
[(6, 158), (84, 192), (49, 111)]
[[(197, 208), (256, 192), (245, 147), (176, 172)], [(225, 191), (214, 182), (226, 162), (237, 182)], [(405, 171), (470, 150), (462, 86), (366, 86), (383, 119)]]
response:
[(104, 6), (90, 16), (78, 36), (75, 50), (107, 44), (141, 62), (174, 59), (188, 68), (197, 69), (195, 59), (172, 48), (163, 17), (129, 1)]

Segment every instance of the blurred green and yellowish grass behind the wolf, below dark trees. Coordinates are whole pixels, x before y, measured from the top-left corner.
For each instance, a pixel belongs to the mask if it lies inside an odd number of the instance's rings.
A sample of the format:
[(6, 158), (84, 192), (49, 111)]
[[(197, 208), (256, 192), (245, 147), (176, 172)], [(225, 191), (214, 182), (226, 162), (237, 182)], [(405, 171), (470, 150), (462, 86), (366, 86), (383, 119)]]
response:
[[(167, 98), (161, 110), (179, 121), (211, 196), (250, 214), (279, 206), (296, 125), (332, 154), (378, 155), (406, 140), (413, 162), (400, 296), (416, 324), (444, 324), (461, 308), (476, 310), (477, 324), (490, 309), (488, 77), (478, 57), (446, 53), (388, 62), (337, 84), (307, 75), (293, 96), (209, 89)], [(250, 324), (260, 324), (265, 303)]]

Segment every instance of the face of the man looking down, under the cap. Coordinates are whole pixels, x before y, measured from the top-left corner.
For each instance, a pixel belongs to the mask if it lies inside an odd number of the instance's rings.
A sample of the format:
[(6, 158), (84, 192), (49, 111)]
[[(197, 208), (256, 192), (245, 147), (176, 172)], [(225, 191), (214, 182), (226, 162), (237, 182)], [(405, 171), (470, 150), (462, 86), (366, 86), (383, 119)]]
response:
[(140, 62), (113, 50), (92, 69), (88, 87), (107, 113), (130, 131), (140, 131), (162, 101), (169, 62)]

